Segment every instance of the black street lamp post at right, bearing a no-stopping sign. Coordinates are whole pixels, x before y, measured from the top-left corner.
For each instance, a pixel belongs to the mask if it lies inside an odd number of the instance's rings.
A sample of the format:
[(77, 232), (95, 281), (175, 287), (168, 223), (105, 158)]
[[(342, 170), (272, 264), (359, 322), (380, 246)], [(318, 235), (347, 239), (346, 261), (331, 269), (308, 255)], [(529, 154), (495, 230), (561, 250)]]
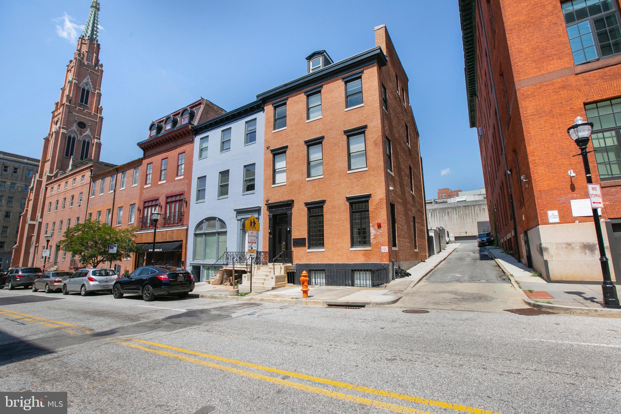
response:
[[(593, 129), (592, 122), (584, 122), (582, 117), (577, 117), (574, 120), (574, 124), (567, 128), (569, 137), (580, 148), (580, 155), (582, 155), (582, 163), (584, 164), (584, 173), (586, 174), (587, 184), (593, 184), (591, 177), (591, 167), (589, 166), (589, 157), (587, 154), (591, 151), (587, 151), (586, 147), (589, 145), (589, 137), (591, 137), (591, 130)], [(602, 266), (602, 275), (604, 281), (602, 281), (602, 293), (604, 294), (604, 306), (608, 308), (620, 308), (619, 297), (617, 297), (617, 289), (612, 284), (610, 278), (610, 268), (608, 264), (608, 258), (606, 257), (606, 251), (604, 248), (604, 236), (602, 236), (602, 228), (599, 223), (599, 212), (594, 208), (593, 221), (595, 223), (595, 233), (597, 235), (597, 246), (599, 246), (599, 263)]]

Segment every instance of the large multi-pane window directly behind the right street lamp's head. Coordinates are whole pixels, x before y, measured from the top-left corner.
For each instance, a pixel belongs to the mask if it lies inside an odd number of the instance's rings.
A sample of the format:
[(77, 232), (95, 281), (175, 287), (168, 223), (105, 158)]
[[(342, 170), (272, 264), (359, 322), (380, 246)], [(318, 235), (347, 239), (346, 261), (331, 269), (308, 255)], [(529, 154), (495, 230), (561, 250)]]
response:
[(599, 178), (621, 178), (621, 98), (586, 104), (584, 109), (593, 123), (591, 139)]

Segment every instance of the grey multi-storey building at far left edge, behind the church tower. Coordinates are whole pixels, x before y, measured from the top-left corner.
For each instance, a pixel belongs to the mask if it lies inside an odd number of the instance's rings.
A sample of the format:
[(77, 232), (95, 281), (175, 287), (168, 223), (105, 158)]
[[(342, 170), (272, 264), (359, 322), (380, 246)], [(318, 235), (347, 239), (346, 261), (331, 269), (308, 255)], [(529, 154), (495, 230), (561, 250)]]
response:
[(39, 160), (36, 158), (0, 151), (0, 269), (11, 266), (20, 214), (26, 206), (37, 169)]

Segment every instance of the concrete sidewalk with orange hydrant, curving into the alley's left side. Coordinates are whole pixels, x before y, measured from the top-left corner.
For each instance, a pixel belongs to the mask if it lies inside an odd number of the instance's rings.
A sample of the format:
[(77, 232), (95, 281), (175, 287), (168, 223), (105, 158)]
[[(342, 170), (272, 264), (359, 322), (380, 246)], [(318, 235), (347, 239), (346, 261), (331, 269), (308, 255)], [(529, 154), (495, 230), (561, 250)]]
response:
[[(206, 282), (196, 284), (193, 295), (206, 299), (241, 300), (251, 302), (269, 302), (294, 305), (327, 306), (340, 305), (365, 305), (366, 307), (384, 306), (396, 303), (401, 299), (402, 293), (413, 287), (423, 277), (432, 271), (446, 257), (453, 253), (459, 244), (448, 245), (446, 250), (433, 255), (426, 261), (417, 264), (408, 272), (411, 276), (402, 277), (391, 281), (383, 287), (348, 287), (348, 286), (309, 286), (308, 299), (302, 299), (302, 287), (288, 285), (273, 290), (260, 290), (248, 293), (245, 296), (229, 295), (232, 287), (224, 285), (212, 285)], [(245, 286), (239, 287), (240, 293), (250, 292)]]

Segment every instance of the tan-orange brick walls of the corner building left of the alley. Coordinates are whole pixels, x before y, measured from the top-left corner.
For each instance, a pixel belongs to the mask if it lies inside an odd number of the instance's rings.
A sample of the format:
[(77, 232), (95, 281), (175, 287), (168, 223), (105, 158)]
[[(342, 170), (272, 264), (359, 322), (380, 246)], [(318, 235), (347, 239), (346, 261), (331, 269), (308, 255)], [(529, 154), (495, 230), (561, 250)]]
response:
[[(381, 26), (376, 30), (376, 45), (388, 55), (389, 64), (383, 68), (368, 65), (363, 69), (363, 106), (345, 109), (345, 88), (342, 76), (322, 83), (322, 117), (307, 122), (307, 103), (304, 90), (292, 92), (287, 101), (287, 127), (273, 132), (274, 108), (265, 103), (265, 145), (278, 148), (288, 145), (286, 152), (286, 184), (273, 186), (273, 155), (265, 150), (264, 197), (270, 203), (294, 200), (292, 206), (291, 238), (307, 238), (307, 209), (304, 202), (325, 199), (324, 251), (307, 251), (294, 247), (294, 261), (298, 263), (363, 263), (378, 262), (380, 246), (391, 246), (389, 203), (396, 205), (397, 249), (382, 254), (382, 261), (417, 261), (427, 258), (424, 196), (420, 174), (418, 132), (407, 100), (407, 76), (399, 63)], [(352, 70), (355, 73), (358, 70)], [(397, 94), (395, 73), (400, 86)], [(382, 108), (381, 84), (388, 92), (389, 113)], [(319, 83), (318, 83), (319, 84)], [(401, 86), (406, 93), (402, 99)], [(406, 145), (406, 124), (409, 125), (410, 146)], [(344, 130), (366, 125), (367, 169), (348, 173), (347, 137)], [(307, 179), (307, 148), (305, 140), (324, 137), (322, 143), (323, 176)], [(387, 171), (386, 137), (392, 143), (393, 173)], [(414, 176), (414, 194), (410, 192), (409, 167)], [(392, 175), (394, 174), (394, 176)], [(393, 187), (394, 190), (389, 190)], [(350, 210), (345, 197), (371, 194), (369, 216), (371, 247), (352, 249), (350, 241)], [(417, 246), (414, 251), (414, 225), (417, 217)], [(264, 220), (264, 228), (267, 224)], [(376, 223), (382, 223), (381, 240)], [(268, 232), (263, 232), (263, 246), (270, 243)]]

